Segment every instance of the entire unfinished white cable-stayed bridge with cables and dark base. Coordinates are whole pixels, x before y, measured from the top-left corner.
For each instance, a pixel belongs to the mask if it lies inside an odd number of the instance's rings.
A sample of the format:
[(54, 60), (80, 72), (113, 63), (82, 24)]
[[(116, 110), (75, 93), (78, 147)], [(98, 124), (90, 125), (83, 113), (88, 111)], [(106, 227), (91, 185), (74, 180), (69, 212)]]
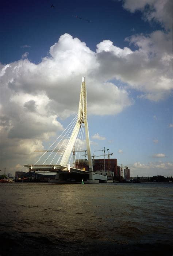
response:
[[(88, 170), (78, 169), (75, 166), (75, 161), (73, 160), (73, 166), (70, 165), (72, 158), (73, 148), (76, 147), (78, 142), (77, 151), (81, 150), (82, 138), (85, 131), (86, 148), (88, 155)], [(69, 139), (65, 138), (65, 135), (69, 135)], [(59, 140), (59, 142), (57, 142)], [(56, 146), (53, 150), (50, 148), (55, 144)], [(57, 147), (59, 149), (57, 150)], [(64, 148), (63, 148), (64, 147)], [(63, 149), (62, 149), (63, 148)], [(43, 163), (38, 164), (41, 159), (45, 157), (46, 152), (51, 152)], [(47, 164), (48, 158), (52, 156), (52, 153), (56, 152), (55, 156), (49, 164)], [(58, 160), (55, 163), (55, 157), (58, 156)], [(29, 171), (45, 171), (45, 172), (55, 172), (55, 180), (50, 180), (52, 183), (81, 183), (83, 179), (85, 183), (99, 183), (107, 182), (107, 176), (99, 175), (93, 172), (92, 158), (91, 158), (91, 147), (89, 141), (89, 130), (87, 121), (87, 103), (86, 103), (86, 82), (85, 77), (82, 77), (80, 100), (78, 107), (78, 114), (69, 124), (68, 127), (62, 132), (61, 135), (53, 142), (53, 144), (42, 154), (42, 156), (36, 161), (36, 163), (30, 165), (24, 165)]]

